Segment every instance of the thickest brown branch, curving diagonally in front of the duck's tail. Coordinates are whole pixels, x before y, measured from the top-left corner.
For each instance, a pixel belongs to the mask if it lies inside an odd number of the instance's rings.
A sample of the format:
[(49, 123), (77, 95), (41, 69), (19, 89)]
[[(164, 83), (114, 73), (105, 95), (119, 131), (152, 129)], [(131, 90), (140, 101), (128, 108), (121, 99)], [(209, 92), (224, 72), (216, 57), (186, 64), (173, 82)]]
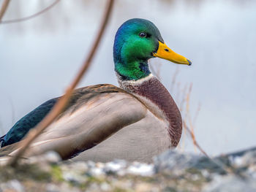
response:
[(105, 27), (110, 18), (110, 12), (113, 7), (113, 2), (114, 0), (108, 1), (108, 7), (106, 9), (104, 18), (102, 20), (102, 25), (99, 29), (97, 38), (95, 39), (94, 45), (92, 46), (91, 51), (88, 57), (86, 58), (86, 61), (83, 63), (82, 68), (80, 69), (77, 76), (75, 77), (75, 80), (73, 80), (72, 83), (69, 85), (65, 95), (62, 96), (61, 99), (59, 99), (59, 101), (54, 105), (53, 110), (51, 110), (48, 113), (48, 115), (40, 123), (37, 124), (35, 128), (29, 131), (28, 136), (26, 137), (26, 139), (23, 140), (23, 144), (21, 144), (18, 147), (19, 148), (18, 153), (16, 153), (15, 156), (11, 158), (10, 161), (8, 162), (11, 166), (16, 166), (18, 164), (18, 159), (21, 157), (21, 155), (23, 155), (23, 153), (25, 153), (26, 149), (29, 148), (29, 145), (31, 144), (31, 142), (33, 142), (34, 139), (36, 139), (39, 136), (39, 134), (41, 134), (42, 131), (45, 130), (45, 128), (48, 127), (50, 123), (52, 123), (53, 120), (55, 120), (59, 116), (61, 111), (66, 106), (67, 102), (70, 99), (70, 96), (72, 95), (72, 91), (74, 90), (75, 86), (78, 85), (78, 82), (81, 80), (81, 78), (83, 77), (83, 74), (87, 71), (87, 69), (91, 64), (91, 60), (94, 57), (94, 54), (97, 50), (99, 42), (102, 39), (102, 34), (105, 31)]

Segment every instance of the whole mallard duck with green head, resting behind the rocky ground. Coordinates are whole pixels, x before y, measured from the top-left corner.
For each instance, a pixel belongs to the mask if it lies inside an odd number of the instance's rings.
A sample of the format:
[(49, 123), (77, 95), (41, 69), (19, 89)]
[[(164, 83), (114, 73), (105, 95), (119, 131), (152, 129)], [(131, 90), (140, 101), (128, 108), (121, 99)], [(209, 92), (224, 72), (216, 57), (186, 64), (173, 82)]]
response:
[[(170, 93), (151, 74), (148, 59), (155, 57), (192, 64), (165, 45), (151, 21), (135, 18), (123, 23), (113, 45), (120, 87), (102, 84), (75, 90), (64, 112), (37, 137), (25, 156), (54, 150), (64, 160), (151, 161), (154, 155), (176, 147), (181, 138), (181, 114)], [(0, 155), (14, 155), (28, 131), (58, 99), (46, 101), (18, 120), (1, 137)]]

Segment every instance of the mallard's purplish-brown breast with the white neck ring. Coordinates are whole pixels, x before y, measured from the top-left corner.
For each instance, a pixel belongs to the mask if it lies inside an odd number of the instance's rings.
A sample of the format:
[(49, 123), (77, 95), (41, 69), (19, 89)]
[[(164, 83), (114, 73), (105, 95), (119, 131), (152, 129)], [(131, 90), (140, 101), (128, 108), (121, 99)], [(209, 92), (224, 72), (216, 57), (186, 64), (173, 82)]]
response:
[[(139, 80), (123, 80), (117, 73), (118, 83), (125, 91), (135, 94), (151, 111), (160, 111), (160, 117), (167, 121), (172, 147), (176, 147), (181, 138), (181, 114), (172, 96), (151, 73)], [(154, 105), (154, 106), (153, 106)], [(159, 114), (159, 112), (158, 112)]]

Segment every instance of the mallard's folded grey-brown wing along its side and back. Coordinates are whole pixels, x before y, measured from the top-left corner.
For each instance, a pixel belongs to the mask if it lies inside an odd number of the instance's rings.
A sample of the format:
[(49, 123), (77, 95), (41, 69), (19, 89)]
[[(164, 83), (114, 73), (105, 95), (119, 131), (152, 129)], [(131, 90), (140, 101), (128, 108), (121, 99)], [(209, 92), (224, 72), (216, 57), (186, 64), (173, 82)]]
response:
[[(124, 126), (138, 122), (146, 107), (114, 85), (94, 85), (75, 91), (67, 109), (31, 145), (26, 156), (55, 150), (67, 159), (108, 139)], [(18, 145), (16, 145), (18, 146)], [(7, 146), (8, 147), (8, 146)], [(14, 155), (18, 148), (10, 147)]]

